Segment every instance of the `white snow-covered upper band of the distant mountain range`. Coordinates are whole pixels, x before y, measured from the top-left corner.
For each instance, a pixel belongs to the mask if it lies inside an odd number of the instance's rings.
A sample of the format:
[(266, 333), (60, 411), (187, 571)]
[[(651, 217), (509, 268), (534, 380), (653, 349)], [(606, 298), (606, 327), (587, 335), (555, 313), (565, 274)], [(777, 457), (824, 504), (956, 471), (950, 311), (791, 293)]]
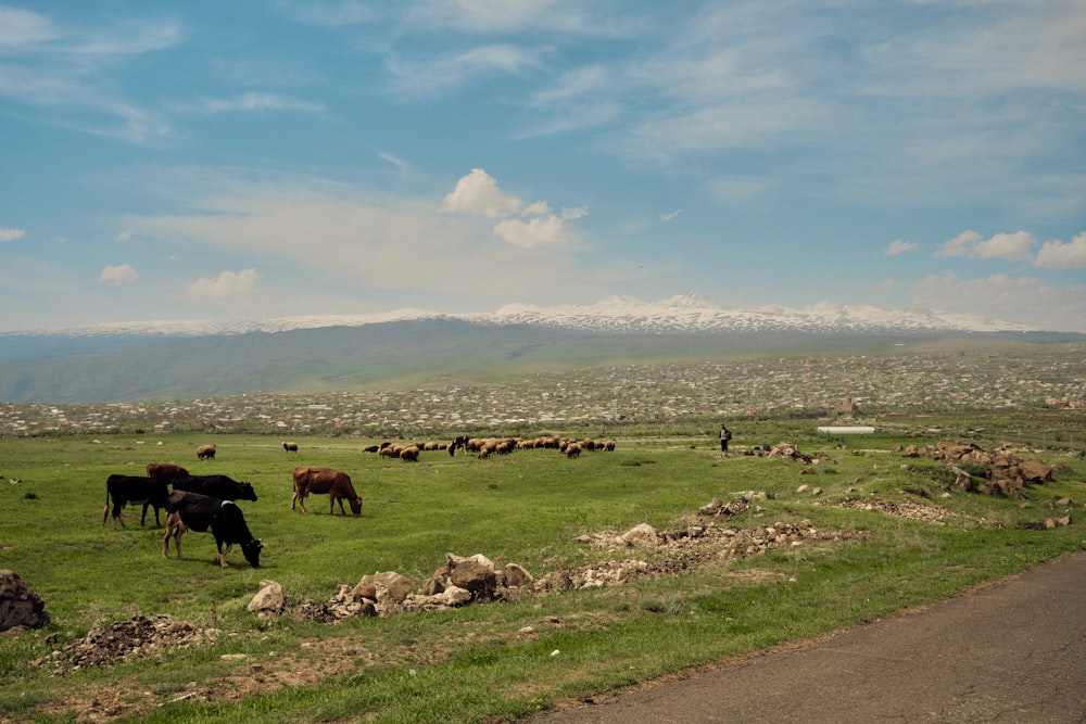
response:
[[(935, 309), (886, 309), (823, 302), (803, 309), (767, 306), (725, 309), (700, 294), (687, 293), (659, 302), (611, 296), (591, 305), (536, 306), (508, 304), (491, 313), (449, 314), (417, 308), (361, 315), (278, 317), (257, 321), (163, 320), (116, 322), (39, 334), (67, 336), (162, 335), (204, 336), (248, 332), (285, 332), (325, 327), (361, 327), (393, 321), (458, 319), (488, 325), (533, 325), (596, 332), (807, 332), (931, 333), (1040, 331), (1016, 322)], [(34, 334), (34, 333), (27, 333)]]

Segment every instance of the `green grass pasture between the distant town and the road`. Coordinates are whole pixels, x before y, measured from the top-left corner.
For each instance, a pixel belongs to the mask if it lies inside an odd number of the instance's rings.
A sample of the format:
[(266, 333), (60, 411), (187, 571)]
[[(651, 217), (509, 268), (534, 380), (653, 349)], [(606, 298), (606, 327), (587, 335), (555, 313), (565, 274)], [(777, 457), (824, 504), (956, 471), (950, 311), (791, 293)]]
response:
[[(935, 461), (902, 459), (893, 436), (795, 441), (804, 453), (830, 457), (811, 475), (793, 461), (742, 455), (787, 433), (767, 429), (763, 439), (736, 440), (728, 459), (712, 440), (661, 435), (618, 436), (615, 452), (576, 460), (548, 449), (488, 460), (429, 452), (417, 463), (364, 454), (371, 441), (343, 437), (299, 439), (296, 456), (278, 439), (256, 435), (0, 440), (0, 569), (15, 571), (52, 617), (41, 630), (0, 636), (0, 721), (513, 720), (893, 614), (1086, 547), (1077, 518), (1086, 501), (1081, 453), (1031, 454), (1057, 471), (1025, 498), (944, 497), (952, 474)], [(217, 445), (213, 461), (195, 459), (205, 442)], [(266, 544), (262, 568), (250, 568), (237, 549), (231, 567), (219, 568), (214, 538), (199, 533), (185, 536), (185, 560), (173, 547), (163, 560), (162, 528), (150, 513), (141, 528), (138, 508), (127, 510), (124, 530), (103, 525), (105, 479), (143, 474), (151, 461), (252, 482), (260, 500), (240, 505)], [(323, 496), (310, 499), (306, 516), (291, 511), (295, 465), (350, 473), (365, 499), (362, 517), (338, 508), (330, 516)], [(8, 483), (16, 477), (21, 483)], [(805, 484), (822, 495), (797, 492)], [(591, 548), (577, 538), (641, 522), (685, 528), (714, 497), (727, 501), (745, 491), (767, 499), (718, 524), (809, 520), (867, 537), (517, 602), (339, 624), (262, 623), (245, 608), (265, 579), (281, 583), (291, 601), (323, 601), (337, 585), (377, 571), (422, 583), (446, 552), (516, 562), (536, 579), (601, 558), (667, 556)], [(1060, 497), (1074, 503), (1048, 505)], [(931, 522), (834, 505), (847, 498), (955, 515)], [(1072, 524), (1016, 528), (1056, 515), (1071, 515)], [(111, 666), (56, 674), (30, 665), (137, 613), (223, 633), (214, 645)]]

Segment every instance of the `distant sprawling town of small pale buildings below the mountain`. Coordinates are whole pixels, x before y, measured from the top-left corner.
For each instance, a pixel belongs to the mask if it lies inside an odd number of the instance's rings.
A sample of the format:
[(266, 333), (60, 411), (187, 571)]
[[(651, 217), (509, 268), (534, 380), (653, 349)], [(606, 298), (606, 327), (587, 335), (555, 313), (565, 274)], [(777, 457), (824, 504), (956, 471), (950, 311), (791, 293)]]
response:
[[(906, 352), (539, 371), (494, 384), (253, 393), (155, 403), (0, 402), (0, 436), (111, 433), (439, 436), (747, 418), (864, 419), (956, 410), (1086, 410), (1082, 345)], [(1086, 414), (1084, 414), (1086, 415)]]

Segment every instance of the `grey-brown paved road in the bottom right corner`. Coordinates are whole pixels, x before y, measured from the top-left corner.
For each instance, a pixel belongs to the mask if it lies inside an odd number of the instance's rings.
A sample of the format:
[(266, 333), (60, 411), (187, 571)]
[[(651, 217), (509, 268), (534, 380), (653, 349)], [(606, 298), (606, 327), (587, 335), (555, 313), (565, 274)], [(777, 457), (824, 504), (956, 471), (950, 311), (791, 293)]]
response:
[(921, 611), (530, 721), (1086, 723), (1086, 554)]

